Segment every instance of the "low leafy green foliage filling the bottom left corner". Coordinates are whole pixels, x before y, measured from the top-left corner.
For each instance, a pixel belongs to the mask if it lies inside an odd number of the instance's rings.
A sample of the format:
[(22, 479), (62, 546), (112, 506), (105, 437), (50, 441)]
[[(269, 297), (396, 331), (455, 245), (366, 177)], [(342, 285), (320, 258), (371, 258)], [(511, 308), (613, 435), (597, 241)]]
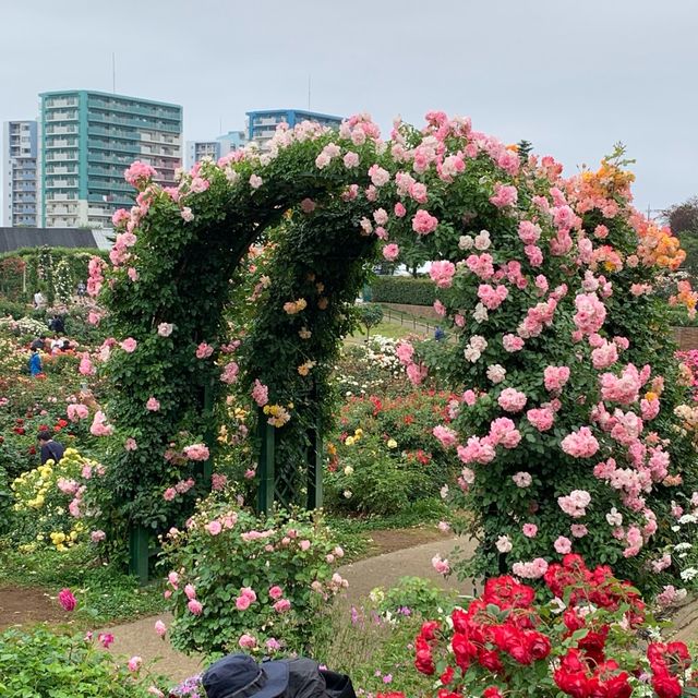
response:
[(167, 682), (100, 651), (96, 641), (38, 627), (0, 635), (0, 696), (12, 698), (149, 698)]

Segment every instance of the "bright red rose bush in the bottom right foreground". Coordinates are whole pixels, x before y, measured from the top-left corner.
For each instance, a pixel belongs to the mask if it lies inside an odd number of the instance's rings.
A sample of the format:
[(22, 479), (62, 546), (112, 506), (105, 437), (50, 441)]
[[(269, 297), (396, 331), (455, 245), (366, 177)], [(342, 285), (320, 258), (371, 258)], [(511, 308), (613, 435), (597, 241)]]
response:
[(610, 567), (568, 554), (543, 580), (537, 593), (508, 575), (488, 579), (467, 607), (422, 625), (414, 665), (437, 678), (438, 698), (694, 695), (686, 646), (643, 645), (657, 628)]

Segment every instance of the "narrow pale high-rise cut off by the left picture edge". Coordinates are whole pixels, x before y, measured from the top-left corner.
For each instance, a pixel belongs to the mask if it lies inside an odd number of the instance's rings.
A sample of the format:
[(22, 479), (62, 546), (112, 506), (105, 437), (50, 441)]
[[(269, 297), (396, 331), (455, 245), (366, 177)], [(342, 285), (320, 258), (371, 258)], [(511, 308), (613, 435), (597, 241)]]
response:
[(2, 222), (36, 227), (36, 121), (5, 121), (2, 128)]

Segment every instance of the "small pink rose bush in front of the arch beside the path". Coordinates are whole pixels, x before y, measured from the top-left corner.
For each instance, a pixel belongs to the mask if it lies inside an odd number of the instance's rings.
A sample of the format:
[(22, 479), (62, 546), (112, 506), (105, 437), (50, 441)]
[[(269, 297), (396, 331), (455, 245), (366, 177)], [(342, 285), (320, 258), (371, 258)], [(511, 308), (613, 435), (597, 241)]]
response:
[(245, 635), (260, 654), (308, 651), (327, 598), (342, 588), (333, 568), (344, 551), (310, 513), (256, 518), (212, 498), (163, 547), (163, 564), (176, 570), (171, 639), (188, 652), (234, 652)]

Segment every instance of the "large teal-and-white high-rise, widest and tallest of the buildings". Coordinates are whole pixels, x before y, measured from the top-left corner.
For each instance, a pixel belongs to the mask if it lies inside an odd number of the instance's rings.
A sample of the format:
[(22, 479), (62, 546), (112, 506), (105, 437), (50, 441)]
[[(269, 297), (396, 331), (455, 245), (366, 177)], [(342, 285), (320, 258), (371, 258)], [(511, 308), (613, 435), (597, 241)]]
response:
[(112, 213), (133, 205), (123, 171), (134, 160), (152, 165), (158, 183), (174, 184), (180, 106), (84, 89), (39, 96), (41, 226), (111, 227)]

